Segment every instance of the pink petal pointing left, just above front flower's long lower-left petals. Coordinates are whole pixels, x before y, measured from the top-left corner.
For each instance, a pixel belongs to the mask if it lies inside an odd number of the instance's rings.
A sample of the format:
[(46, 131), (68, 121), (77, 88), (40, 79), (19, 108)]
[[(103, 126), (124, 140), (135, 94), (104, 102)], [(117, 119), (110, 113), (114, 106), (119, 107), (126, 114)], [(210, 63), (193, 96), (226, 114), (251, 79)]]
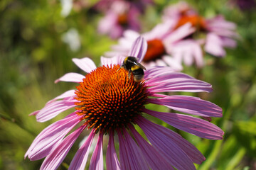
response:
[(75, 107), (75, 101), (76, 100), (71, 97), (65, 98), (62, 101), (53, 101), (51, 103), (48, 103), (44, 108), (41, 109), (41, 111), (37, 113), (36, 120), (38, 122), (46, 122), (47, 120), (54, 118), (59, 113), (62, 113), (69, 108)]

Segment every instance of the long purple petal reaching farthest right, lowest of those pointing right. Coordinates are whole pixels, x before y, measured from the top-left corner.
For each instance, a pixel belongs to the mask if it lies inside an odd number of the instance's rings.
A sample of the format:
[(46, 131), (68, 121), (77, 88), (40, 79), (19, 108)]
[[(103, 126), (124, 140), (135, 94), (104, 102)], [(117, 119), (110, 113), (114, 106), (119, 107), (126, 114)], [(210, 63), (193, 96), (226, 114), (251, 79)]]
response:
[(163, 120), (174, 128), (189, 132), (198, 137), (203, 137), (209, 140), (223, 139), (223, 130), (206, 120), (178, 113), (162, 113), (150, 110), (145, 110), (145, 113)]

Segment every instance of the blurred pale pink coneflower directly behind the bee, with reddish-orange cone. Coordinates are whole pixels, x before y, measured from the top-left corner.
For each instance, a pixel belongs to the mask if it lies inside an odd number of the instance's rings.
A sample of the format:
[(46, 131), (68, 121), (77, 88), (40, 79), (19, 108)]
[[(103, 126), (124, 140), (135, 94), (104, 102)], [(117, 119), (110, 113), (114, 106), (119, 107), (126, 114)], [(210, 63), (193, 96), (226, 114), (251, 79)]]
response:
[[(180, 45), (181, 40), (191, 35), (195, 31), (191, 24), (185, 24), (180, 28), (170, 31), (175, 25), (175, 22), (159, 23), (152, 30), (143, 33), (142, 36), (146, 39), (148, 48), (142, 60), (146, 68), (153, 66), (169, 66), (174, 71), (179, 72), (183, 69), (181, 60), (172, 57), (175, 52), (176, 46)], [(119, 38), (119, 43), (112, 46), (111, 52), (106, 52), (105, 55), (113, 57), (117, 54), (128, 55), (129, 49), (132, 47), (132, 42), (140, 35), (139, 33), (127, 30), (124, 32), (122, 38)], [(183, 49), (186, 46), (183, 46)], [(199, 49), (193, 48), (193, 55), (195, 58), (201, 59), (200, 47)], [(198, 56), (199, 55), (199, 56)], [(196, 60), (198, 63), (201, 61)]]

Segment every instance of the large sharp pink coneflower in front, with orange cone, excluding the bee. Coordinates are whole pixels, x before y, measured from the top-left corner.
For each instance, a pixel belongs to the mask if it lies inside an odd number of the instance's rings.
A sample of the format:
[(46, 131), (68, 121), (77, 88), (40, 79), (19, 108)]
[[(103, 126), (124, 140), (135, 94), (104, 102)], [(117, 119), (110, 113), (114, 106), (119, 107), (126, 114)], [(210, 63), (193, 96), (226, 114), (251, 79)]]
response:
[[(129, 56), (137, 57), (140, 62), (145, 53), (146, 41), (138, 38)], [(159, 94), (168, 91), (209, 92), (212, 90), (210, 84), (186, 74), (169, 72), (169, 67), (148, 69), (144, 80), (134, 81), (133, 74), (129, 77), (126, 69), (120, 69), (123, 57), (102, 57), (101, 67), (96, 67), (86, 57), (73, 59), (73, 62), (87, 72), (86, 76), (68, 73), (57, 81), (78, 83), (77, 90), (66, 91), (46, 103), (40, 111), (32, 113), (39, 122), (44, 122), (68, 108), (76, 109), (44, 129), (26, 152), (25, 157), (33, 161), (46, 157), (41, 169), (57, 169), (85, 128), (90, 130), (90, 135), (76, 152), (69, 169), (85, 169), (92, 140), (97, 134), (89, 169), (103, 169), (102, 146), (103, 138), (107, 136), (107, 169), (196, 169), (193, 163), (201, 164), (205, 160), (201, 152), (181, 135), (153, 123), (145, 118), (146, 114), (198, 137), (223, 138), (223, 131), (218, 126), (191, 116), (221, 117), (221, 108), (193, 96)], [(151, 111), (146, 108), (149, 103), (190, 115)], [(78, 128), (73, 130), (75, 126)], [(137, 128), (143, 130), (147, 140)], [(114, 147), (114, 135), (119, 141), (119, 154)]]

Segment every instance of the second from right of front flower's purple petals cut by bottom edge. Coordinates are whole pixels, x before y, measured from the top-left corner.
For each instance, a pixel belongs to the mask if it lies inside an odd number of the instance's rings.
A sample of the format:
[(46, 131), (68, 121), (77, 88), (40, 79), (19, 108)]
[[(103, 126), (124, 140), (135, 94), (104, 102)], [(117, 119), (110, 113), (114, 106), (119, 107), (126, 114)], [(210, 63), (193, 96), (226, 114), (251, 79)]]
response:
[(146, 142), (146, 140), (139, 135), (139, 132), (137, 132), (132, 125), (129, 125), (129, 129), (132, 131), (139, 148), (142, 149), (142, 154), (144, 155), (151, 169), (174, 169), (171, 167), (171, 164), (169, 164), (166, 159), (162, 157), (161, 154), (159, 154), (159, 152), (152, 147), (152, 145), (149, 144), (149, 142)]

